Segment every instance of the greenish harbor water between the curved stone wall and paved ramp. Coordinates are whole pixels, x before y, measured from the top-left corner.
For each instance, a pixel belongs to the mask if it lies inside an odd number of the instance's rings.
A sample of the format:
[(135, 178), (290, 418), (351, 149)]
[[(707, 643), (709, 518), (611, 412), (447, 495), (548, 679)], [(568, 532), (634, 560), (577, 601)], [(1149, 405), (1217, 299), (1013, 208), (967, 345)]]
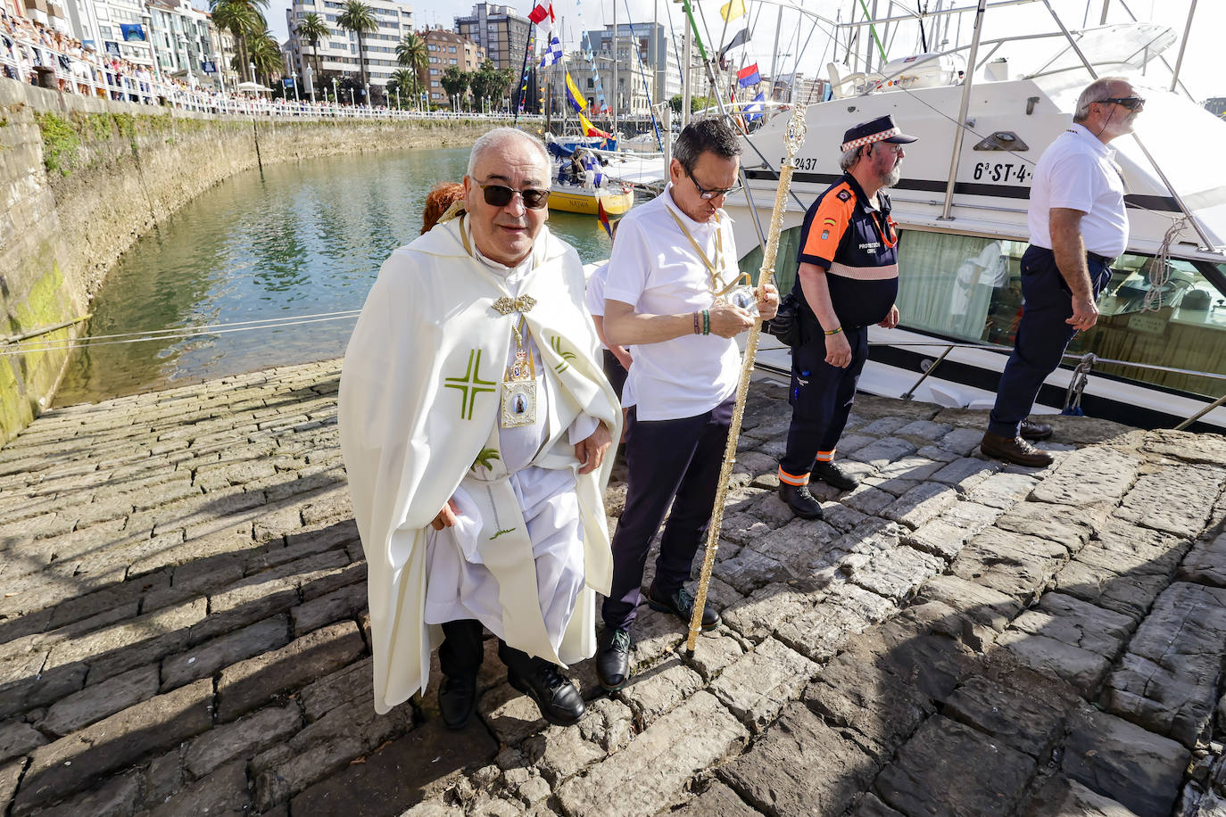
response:
[[(419, 234), (425, 194), (467, 160), (467, 148), (324, 158), (205, 192), (110, 271), (55, 404), (342, 355), (356, 316), (335, 314), (362, 307), (383, 261)], [(554, 212), (549, 228), (585, 263), (608, 257), (596, 218)], [(242, 326), (270, 320), (284, 322)], [(184, 337), (194, 327), (211, 328)], [(103, 337), (164, 329), (181, 332)]]

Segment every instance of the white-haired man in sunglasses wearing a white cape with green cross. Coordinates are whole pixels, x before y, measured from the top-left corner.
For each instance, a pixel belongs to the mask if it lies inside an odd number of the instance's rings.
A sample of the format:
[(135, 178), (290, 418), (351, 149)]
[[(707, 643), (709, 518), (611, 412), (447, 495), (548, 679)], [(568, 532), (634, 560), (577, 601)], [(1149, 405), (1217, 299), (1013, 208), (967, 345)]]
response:
[(546, 228), (549, 159), (510, 127), (473, 145), (463, 212), (391, 254), (345, 355), (341, 447), (369, 570), (375, 709), (429, 680), (472, 718), (482, 626), (547, 720), (596, 649), (612, 576), (603, 489), (622, 412), (575, 250)]

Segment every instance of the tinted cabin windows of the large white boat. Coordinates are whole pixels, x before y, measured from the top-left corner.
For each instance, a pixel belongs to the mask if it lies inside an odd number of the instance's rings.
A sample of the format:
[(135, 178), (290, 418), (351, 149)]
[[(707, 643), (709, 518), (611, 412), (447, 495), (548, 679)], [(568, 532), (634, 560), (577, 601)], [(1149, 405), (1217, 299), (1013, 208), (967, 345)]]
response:
[[(799, 228), (780, 236), (776, 283), (796, 282)], [(1021, 316), (1025, 241), (902, 230), (899, 311), (902, 327), (964, 343), (1011, 347)], [(741, 263), (756, 276), (761, 250)], [(1079, 333), (1070, 354), (1226, 375), (1226, 263), (1124, 255), (1098, 298), (1095, 328)], [(1067, 361), (1068, 363), (1068, 361)], [(1217, 398), (1226, 380), (1117, 364), (1095, 371), (1162, 388)]]

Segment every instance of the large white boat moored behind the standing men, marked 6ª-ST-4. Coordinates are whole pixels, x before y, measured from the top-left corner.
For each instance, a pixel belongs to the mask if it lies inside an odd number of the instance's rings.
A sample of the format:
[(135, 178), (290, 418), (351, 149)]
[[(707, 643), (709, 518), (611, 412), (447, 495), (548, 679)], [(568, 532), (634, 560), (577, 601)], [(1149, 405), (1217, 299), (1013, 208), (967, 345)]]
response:
[[(981, 12), (986, 5), (980, 0)], [(1112, 143), (1128, 190), (1129, 245), (1100, 299), (1098, 325), (1074, 339), (1076, 356), (1048, 377), (1036, 412), (1226, 429), (1222, 401), (1214, 402), (1226, 394), (1226, 168), (1188, 149), (1189, 135), (1226, 142), (1226, 124), (1172, 89), (1177, 70), (1155, 87), (1159, 60), (1177, 39), (1168, 27), (1139, 22), (1065, 29), (1047, 40), (1047, 59), (1016, 73), (997, 56), (1011, 40), (981, 42), (976, 28), (969, 48), (879, 71), (830, 64), (834, 97), (807, 109), (808, 136), (794, 159), (776, 271), (783, 292), (794, 282), (805, 208), (841, 174), (842, 132), (890, 114), (920, 137), (890, 190), (902, 323), (870, 327), (861, 390), (991, 407), (1021, 309), (1031, 168), (1068, 127), (1090, 72), (1124, 73), (1146, 98), (1135, 136)], [(1025, 47), (1034, 53), (1042, 43), (1026, 38)], [(785, 127), (776, 116), (743, 138), (747, 186), (725, 205), (738, 246), (750, 249), (741, 266), (752, 274), (761, 262), (753, 213), (774, 201)], [(764, 347), (760, 366), (786, 375), (790, 352)]]

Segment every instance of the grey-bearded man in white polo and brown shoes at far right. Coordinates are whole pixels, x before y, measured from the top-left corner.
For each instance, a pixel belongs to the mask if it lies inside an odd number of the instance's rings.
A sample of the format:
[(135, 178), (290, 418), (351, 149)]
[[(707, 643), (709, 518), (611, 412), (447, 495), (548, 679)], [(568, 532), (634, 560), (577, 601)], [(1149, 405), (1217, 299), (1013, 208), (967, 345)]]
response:
[(1035, 165), (1021, 321), (980, 443), (988, 457), (1035, 468), (1052, 463), (1030, 445), (1052, 436), (1052, 427), (1026, 415), (1073, 336), (1097, 322), (1095, 301), (1128, 245), (1124, 180), (1107, 143), (1130, 134), (1144, 107), (1124, 77), (1095, 80), (1078, 98), (1073, 124)]

